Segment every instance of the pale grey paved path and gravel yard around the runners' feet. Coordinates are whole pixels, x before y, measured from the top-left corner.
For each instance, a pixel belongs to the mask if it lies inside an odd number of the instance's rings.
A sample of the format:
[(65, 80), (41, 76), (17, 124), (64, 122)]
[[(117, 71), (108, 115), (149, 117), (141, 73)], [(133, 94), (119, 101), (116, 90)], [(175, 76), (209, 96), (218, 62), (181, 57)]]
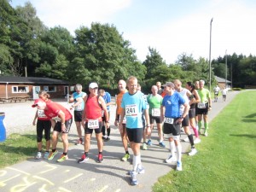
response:
[[(236, 96), (238, 92), (232, 91), (227, 95), (227, 101), (222, 102), (222, 97), (218, 96), (218, 102), (212, 102), (212, 111), (209, 113), (210, 121)], [(67, 107), (67, 102), (57, 100), (63, 106)], [(32, 102), (18, 102), (0, 104), (0, 112), (5, 112), (5, 127), (7, 135), (11, 133), (26, 134), (34, 132), (35, 126), (32, 126), (32, 120), (36, 112), (31, 108)], [(157, 131), (154, 129), (152, 138), (153, 146), (148, 150), (142, 150), (142, 162), (146, 172), (137, 176), (139, 184), (131, 186), (131, 179), (126, 174), (131, 170), (131, 159), (127, 162), (120, 159), (124, 155), (124, 148), (119, 137), (119, 130), (113, 125), (115, 116), (115, 106), (111, 106), (111, 140), (104, 142), (102, 163), (97, 163), (97, 146), (95, 134), (92, 136), (90, 145), (90, 160), (79, 164), (80, 156), (84, 153), (82, 145), (74, 145), (77, 140), (76, 127), (73, 123), (69, 134), (69, 159), (58, 163), (56, 160), (62, 153), (61, 142), (58, 144), (59, 153), (54, 160), (27, 160), (8, 166), (0, 170), (0, 191), (21, 192), (21, 191), (87, 191), (87, 192), (128, 192), (128, 191), (152, 191), (152, 186), (157, 179), (166, 173), (175, 171), (176, 164), (166, 164), (164, 160), (169, 155), (168, 148), (160, 148), (157, 141)], [(210, 129), (209, 136), (211, 137)], [(193, 131), (192, 131), (193, 132)], [(182, 134), (182, 138), (185, 135)], [(201, 136), (203, 145), (207, 142), (207, 137)], [(36, 138), (35, 138), (36, 143)], [(168, 146), (167, 140), (165, 140)], [(188, 155), (189, 143), (182, 142), (183, 155)], [(129, 148), (130, 153), (131, 148)], [(36, 148), (35, 148), (36, 152)], [(200, 154), (200, 151), (198, 152)], [(196, 154), (195, 154), (196, 155)], [(174, 169), (174, 170), (173, 170)]]

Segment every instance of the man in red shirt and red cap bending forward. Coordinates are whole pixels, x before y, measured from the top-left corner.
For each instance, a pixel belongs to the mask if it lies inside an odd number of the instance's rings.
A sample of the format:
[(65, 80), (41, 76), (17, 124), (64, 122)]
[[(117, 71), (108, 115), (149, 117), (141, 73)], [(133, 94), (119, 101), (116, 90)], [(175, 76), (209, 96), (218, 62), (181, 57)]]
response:
[(52, 133), (52, 151), (48, 156), (48, 160), (53, 160), (55, 154), (58, 153), (58, 151), (56, 150), (56, 146), (60, 133), (61, 140), (63, 142), (63, 154), (61, 154), (61, 157), (57, 161), (62, 162), (64, 160), (67, 160), (67, 134), (73, 122), (72, 114), (67, 110), (67, 108), (64, 108), (61, 104), (56, 102), (45, 102), (43, 99), (35, 100), (32, 108), (35, 107), (44, 110), (44, 114), (49, 117), (49, 119), (51, 119), (51, 125), (54, 128), (54, 131)]

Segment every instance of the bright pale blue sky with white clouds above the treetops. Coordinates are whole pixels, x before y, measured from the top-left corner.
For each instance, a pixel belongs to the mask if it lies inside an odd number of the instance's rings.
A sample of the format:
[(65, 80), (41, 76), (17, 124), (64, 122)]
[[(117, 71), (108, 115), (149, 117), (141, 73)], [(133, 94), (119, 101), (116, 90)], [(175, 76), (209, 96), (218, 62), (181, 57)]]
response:
[[(13, 7), (28, 0), (11, 0)], [(211, 59), (236, 53), (256, 55), (255, 0), (30, 0), (45, 26), (62, 26), (74, 36), (92, 22), (116, 26), (144, 61), (148, 47), (167, 64), (185, 53)], [(213, 20), (212, 20), (213, 18)], [(210, 23), (212, 20), (212, 38)]]

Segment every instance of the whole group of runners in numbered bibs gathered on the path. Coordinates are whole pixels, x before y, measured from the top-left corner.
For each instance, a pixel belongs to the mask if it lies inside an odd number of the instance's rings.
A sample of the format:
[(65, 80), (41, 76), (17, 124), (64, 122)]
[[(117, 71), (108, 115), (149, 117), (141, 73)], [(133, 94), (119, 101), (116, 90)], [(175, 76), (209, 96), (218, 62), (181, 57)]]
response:
[[(142, 147), (147, 149), (147, 146), (151, 146), (154, 142), (151, 139), (154, 123), (158, 131), (158, 145), (161, 148), (166, 148), (164, 137), (169, 142), (170, 154), (166, 158), (166, 163), (177, 162), (177, 171), (182, 171), (181, 127), (183, 127), (191, 144), (189, 155), (197, 153), (195, 144), (201, 142), (202, 119), (204, 119), (203, 135), (207, 137), (207, 113), (212, 108), (210, 92), (204, 88), (204, 84), (203, 80), (196, 81), (195, 84), (187, 82), (186, 88), (183, 88), (182, 82), (178, 79), (173, 83), (167, 82), (163, 85), (157, 82), (155, 85), (152, 85), (152, 93), (145, 96), (140, 90), (136, 77), (131, 76), (126, 82), (123, 79), (119, 80), (119, 94), (116, 96), (114, 125), (119, 128), (125, 150), (121, 160), (127, 161), (131, 158), (128, 149), (129, 145), (132, 150), (132, 169), (128, 172), (131, 176), (132, 185), (138, 184), (137, 174), (145, 172), (141, 160), (141, 143), (143, 140)], [(103, 140), (108, 141), (110, 139), (109, 105), (111, 104), (111, 96), (105, 90), (98, 90), (98, 88), (98, 84), (90, 83), (90, 94), (86, 95), (82, 91), (82, 85), (76, 84), (76, 91), (69, 99), (69, 102), (73, 103), (71, 109), (74, 109), (74, 121), (79, 136), (77, 143), (84, 144), (84, 154), (78, 160), (79, 163), (89, 160), (90, 138), (93, 130), (96, 133), (98, 147), (97, 162), (101, 163), (103, 161)], [(73, 121), (73, 115), (67, 108), (49, 100), (47, 92), (40, 91), (38, 96), (39, 99), (35, 100), (32, 105), (32, 107), (38, 108), (33, 120), (35, 125), (36, 119), (38, 119), (38, 154), (36, 159), (42, 158), (42, 137), (44, 131), (44, 137), (47, 141), (44, 158), (48, 160), (54, 159), (55, 154), (58, 153), (56, 150), (58, 136), (61, 134), (63, 153), (57, 161), (67, 160), (67, 134)], [(50, 126), (54, 130), (52, 134), (52, 150), (49, 153)], [(84, 128), (84, 138), (82, 137), (82, 127)], [(195, 139), (190, 132), (190, 127), (194, 131)], [(103, 137), (102, 131), (106, 132), (106, 129), (108, 136)]]

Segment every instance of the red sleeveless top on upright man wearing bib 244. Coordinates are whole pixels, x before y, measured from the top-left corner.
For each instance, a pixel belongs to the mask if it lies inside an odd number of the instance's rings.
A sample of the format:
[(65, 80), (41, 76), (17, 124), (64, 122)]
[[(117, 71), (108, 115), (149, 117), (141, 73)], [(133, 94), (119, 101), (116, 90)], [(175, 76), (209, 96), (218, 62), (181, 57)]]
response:
[(87, 119), (99, 119), (99, 121), (102, 121), (102, 108), (98, 102), (98, 96), (88, 96), (85, 108), (86, 121)]

